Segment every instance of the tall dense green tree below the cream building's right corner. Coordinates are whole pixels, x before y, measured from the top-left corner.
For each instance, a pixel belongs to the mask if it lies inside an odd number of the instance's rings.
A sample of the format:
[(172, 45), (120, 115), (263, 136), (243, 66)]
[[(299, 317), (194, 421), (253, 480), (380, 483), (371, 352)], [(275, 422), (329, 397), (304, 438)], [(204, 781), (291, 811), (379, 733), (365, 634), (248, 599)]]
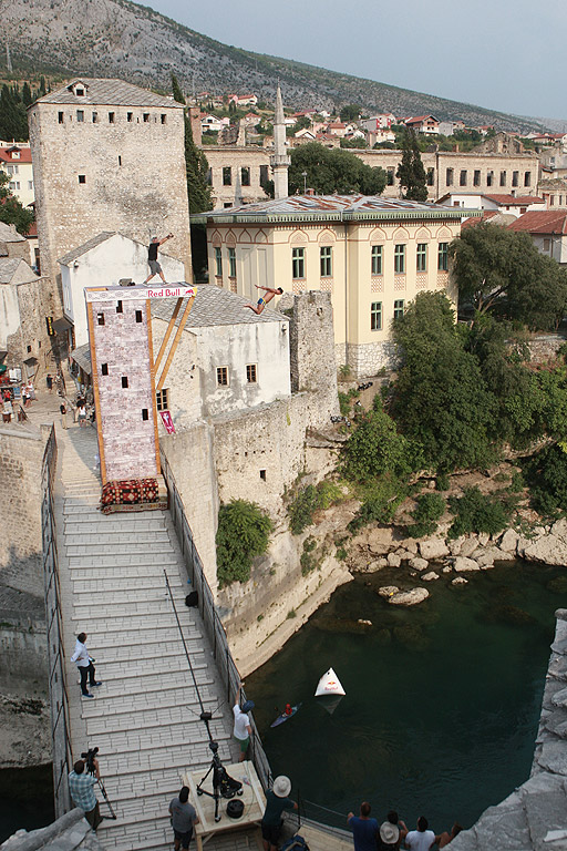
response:
[(488, 429), (496, 411), (474, 356), (466, 351), (443, 293), (422, 293), (394, 320), (402, 366), (393, 399), (399, 428), (423, 450), (432, 469), (488, 463)]

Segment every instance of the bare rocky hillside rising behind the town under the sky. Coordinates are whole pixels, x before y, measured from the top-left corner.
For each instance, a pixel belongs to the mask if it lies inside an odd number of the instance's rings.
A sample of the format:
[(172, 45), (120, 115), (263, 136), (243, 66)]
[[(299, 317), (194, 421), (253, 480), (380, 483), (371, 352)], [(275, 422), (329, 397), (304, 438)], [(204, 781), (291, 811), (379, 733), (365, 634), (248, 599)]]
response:
[[(535, 119), (228, 47), (128, 0), (0, 0), (0, 76), (8, 72), (8, 39), (12, 76), (20, 79), (32, 73), (118, 76), (168, 90), (173, 71), (190, 92), (195, 71), (197, 92), (254, 92), (270, 102), (279, 81), (284, 102), (296, 109), (358, 103), (370, 112), (431, 113), (473, 126), (540, 126)], [(377, 75), (380, 72), (377, 58)]]

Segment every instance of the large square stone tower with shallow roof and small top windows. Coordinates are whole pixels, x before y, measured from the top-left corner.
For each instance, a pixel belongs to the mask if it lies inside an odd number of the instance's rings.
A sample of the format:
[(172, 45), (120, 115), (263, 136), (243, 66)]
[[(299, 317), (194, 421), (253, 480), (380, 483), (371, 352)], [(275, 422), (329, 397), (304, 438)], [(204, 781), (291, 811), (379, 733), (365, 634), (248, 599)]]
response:
[(42, 273), (102, 230), (166, 253), (192, 280), (183, 106), (122, 80), (76, 79), (29, 109)]

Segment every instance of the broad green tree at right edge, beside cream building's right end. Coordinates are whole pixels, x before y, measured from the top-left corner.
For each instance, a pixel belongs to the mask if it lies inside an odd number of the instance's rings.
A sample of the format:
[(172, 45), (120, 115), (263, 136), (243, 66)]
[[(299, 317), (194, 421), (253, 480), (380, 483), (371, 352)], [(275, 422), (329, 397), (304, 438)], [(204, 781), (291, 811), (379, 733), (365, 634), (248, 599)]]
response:
[(567, 305), (567, 274), (527, 234), (489, 222), (465, 227), (450, 246), (461, 303), (532, 329), (556, 328)]

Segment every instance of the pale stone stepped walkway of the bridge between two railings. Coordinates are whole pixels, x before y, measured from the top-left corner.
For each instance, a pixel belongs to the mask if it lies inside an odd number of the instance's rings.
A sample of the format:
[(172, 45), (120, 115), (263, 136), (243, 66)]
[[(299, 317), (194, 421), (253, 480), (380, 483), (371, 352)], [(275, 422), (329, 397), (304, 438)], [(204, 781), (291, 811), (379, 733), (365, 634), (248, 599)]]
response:
[[(99, 838), (112, 851), (171, 849), (167, 807), (187, 769), (210, 763), (200, 706), (166, 589), (167, 572), (219, 756), (234, 761), (231, 711), (200, 615), (184, 605), (185, 567), (168, 512), (103, 515), (91, 428), (58, 429), (56, 521), (73, 759), (100, 748), (103, 782), (116, 812)], [(82, 698), (69, 662), (85, 632), (96, 659), (95, 699)], [(233, 696), (230, 696), (233, 697)], [(230, 703), (230, 701), (229, 701)], [(101, 812), (109, 814), (102, 794)], [(257, 830), (217, 837), (213, 850), (256, 848)]]

